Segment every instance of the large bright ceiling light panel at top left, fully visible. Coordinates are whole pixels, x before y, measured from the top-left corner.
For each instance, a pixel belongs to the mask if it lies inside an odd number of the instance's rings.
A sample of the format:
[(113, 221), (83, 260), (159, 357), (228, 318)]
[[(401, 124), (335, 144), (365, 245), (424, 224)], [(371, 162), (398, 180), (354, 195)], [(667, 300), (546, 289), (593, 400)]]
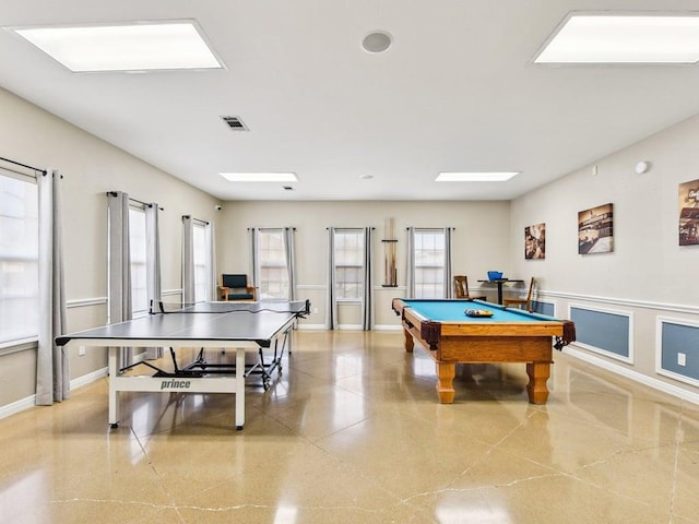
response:
[(192, 21), (13, 31), (73, 72), (223, 68)]

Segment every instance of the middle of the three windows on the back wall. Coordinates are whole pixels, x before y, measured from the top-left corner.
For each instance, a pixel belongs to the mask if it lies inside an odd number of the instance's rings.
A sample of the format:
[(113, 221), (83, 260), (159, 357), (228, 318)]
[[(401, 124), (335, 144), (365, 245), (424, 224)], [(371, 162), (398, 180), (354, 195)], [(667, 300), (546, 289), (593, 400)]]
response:
[(364, 230), (335, 230), (334, 258), (337, 299), (362, 299), (362, 290), (364, 288)]

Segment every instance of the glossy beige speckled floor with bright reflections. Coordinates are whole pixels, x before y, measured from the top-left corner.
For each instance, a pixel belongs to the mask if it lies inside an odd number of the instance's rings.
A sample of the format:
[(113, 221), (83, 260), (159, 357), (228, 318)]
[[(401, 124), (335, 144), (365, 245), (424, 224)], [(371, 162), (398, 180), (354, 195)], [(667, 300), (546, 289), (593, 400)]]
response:
[(400, 332), (294, 337), (242, 431), (233, 395), (176, 393), (110, 429), (107, 379), (0, 420), (0, 522), (699, 523), (697, 405), (565, 352), (544, 406), (523, 365), (462, 366), (440, 405)]

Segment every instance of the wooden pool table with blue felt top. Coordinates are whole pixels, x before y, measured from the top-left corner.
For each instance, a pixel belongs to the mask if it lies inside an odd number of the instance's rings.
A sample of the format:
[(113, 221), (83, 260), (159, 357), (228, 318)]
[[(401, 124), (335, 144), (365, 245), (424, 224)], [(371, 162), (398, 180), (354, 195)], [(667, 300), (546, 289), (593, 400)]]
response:
[[(405, 350), (412, 352), (417, 341), (435, 360), (442, 404), (454, 401), (455, 365), (474, 362), (526, 364), (529, 402), (545, 404), (552, 348), (576, 340), (571, 321), (482, 300), (394, 298), (392, 308), (402, 320)], [(473, 309), (493, 315), (466, 315)]]

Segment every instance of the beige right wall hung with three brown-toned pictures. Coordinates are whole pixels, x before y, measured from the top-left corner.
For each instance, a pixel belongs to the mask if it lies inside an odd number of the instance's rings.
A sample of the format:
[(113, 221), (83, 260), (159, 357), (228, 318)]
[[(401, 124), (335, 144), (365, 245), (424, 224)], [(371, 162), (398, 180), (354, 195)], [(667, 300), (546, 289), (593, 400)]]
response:
[[(697, 136), (699, 117), (512, 201), (510, 242), (513, 271), (536, 276), (559, 317), (570, 303), (631, 317), (632, 364), (582, 350), (584, 357), (699, 394), (655, 371), (657, 317), (697, 322), (699, 314), (699, 247), (677, 240), (678, 184), (699, 179)], [(651, 163), (648, 172), (635, 171), (639, 160)], [(579, 255), (578, 212), (606, 203), (614, 204), (614, 251)], [(546, 223), (546, 259), (525, 261), (524, 227), (538, 223)]]

